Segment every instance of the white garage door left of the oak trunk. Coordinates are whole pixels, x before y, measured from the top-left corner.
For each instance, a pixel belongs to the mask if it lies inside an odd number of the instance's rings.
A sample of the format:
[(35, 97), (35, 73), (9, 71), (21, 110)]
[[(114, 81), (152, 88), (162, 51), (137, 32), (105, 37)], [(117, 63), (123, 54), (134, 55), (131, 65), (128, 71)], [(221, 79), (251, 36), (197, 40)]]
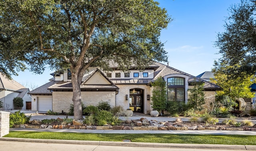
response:
[(37, 98), (37, 110), (38, 111), (52, 111), (52, 96), (50, 97), (38, 97)]

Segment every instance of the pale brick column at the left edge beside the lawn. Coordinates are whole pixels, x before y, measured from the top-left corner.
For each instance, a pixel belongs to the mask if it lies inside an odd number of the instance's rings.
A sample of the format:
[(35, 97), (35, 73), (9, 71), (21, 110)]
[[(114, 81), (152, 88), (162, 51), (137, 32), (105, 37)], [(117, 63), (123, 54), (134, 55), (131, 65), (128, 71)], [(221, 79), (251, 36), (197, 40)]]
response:
[(0, 137), (9, 134), (10, 112), (0, 111)]

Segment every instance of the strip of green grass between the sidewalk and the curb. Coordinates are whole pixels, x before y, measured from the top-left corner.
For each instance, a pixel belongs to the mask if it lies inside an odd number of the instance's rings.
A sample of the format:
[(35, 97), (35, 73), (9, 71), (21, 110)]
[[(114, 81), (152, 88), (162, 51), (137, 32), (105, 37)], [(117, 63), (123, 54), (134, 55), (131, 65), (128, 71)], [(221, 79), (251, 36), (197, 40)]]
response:
[(144, 143), (256, 145), (256, 136), (253, 135), (98, 134), (10, 131), (10, 133), (8, 135), (5, 135), (4, 137), (32, 139), (66, 139), (84, 141), (122, 141), (123, 139), (130, 139), (132, 140), (132, 142)]

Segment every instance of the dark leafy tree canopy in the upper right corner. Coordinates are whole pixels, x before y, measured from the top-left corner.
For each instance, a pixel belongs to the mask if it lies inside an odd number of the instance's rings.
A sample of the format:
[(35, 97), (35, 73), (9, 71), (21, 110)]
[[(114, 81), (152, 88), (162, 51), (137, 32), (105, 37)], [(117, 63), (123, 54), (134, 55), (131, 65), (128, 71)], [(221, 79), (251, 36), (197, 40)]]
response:
[(252, 0), (241, 0), (229, 8), (230, 16), (224, 24), (225, 31), (218, 33), (215, 46), (222, 55), (214, 68), (222, 70), (230, 78), (254, 75), (256, 72), (256, 4)]

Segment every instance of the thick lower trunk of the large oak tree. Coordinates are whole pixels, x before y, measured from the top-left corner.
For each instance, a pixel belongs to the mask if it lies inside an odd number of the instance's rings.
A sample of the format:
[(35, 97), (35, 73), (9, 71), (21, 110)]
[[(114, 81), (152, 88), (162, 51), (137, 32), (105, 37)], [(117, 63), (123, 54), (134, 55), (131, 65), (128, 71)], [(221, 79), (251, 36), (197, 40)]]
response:
[(72, 101), (74, 103), (74, 119), (80, 120), (83, 119), (83, 111), (82, 111), (82, 104), (81, 104), (81, 89), (78, 80), (78, 76), (72, 74), (72, 86), (73, 86), (73, 98)]

